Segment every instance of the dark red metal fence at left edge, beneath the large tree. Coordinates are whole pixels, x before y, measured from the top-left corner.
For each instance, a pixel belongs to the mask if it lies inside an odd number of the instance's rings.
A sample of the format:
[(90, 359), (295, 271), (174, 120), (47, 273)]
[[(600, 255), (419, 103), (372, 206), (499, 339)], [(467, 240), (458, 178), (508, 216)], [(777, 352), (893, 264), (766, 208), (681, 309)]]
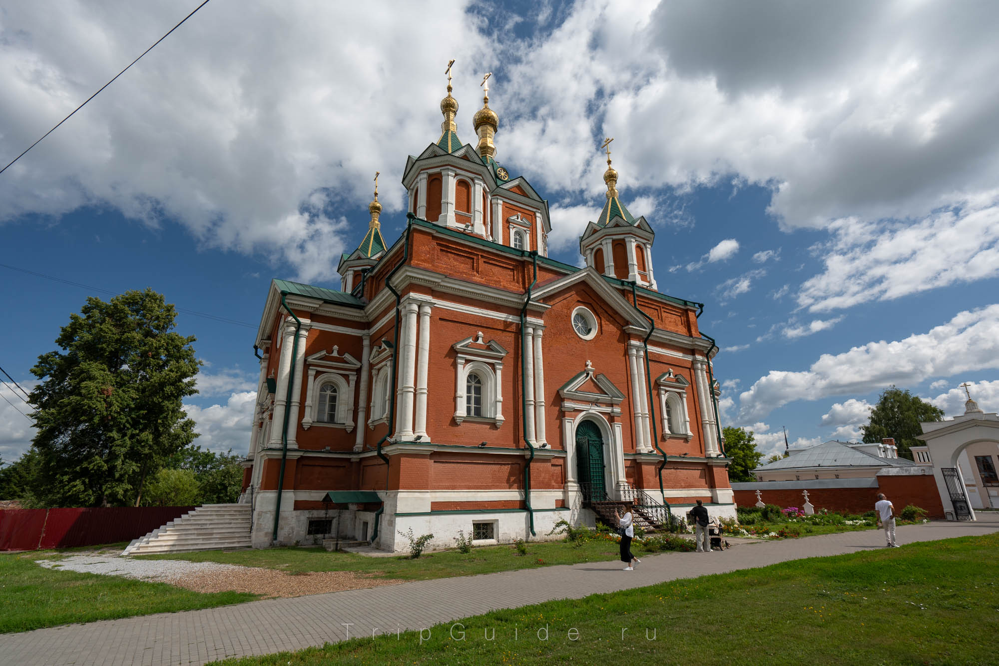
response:
[(0, 511), (0, 550), (131, 541), (193, 510), (193, 506), (6, 509)]

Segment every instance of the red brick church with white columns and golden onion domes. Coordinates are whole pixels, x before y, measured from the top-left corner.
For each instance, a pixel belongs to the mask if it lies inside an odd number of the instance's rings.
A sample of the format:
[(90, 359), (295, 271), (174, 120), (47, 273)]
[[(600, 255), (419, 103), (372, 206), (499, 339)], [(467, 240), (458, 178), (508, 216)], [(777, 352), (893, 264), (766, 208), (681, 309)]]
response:
[(609, 148), (585, 268), (549, 259), (547, 201), (496, 161), (486, 91), (464, 144), (449, 78), (440, 139), (406, 162), (405, 232), (385, 242), (376, 186), (342, 291), (272, 282), (241, 498), (255, 546), (544, 539), (622, 499), (653, 525), (697, 499), (734, 515), (703, 306), (658, 290)]

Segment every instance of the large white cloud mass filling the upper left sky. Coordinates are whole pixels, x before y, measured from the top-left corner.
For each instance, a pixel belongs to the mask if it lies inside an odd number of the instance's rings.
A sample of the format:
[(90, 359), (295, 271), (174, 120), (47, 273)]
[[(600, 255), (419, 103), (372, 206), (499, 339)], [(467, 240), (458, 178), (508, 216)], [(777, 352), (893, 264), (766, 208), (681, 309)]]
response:
[[(4, 173), (0, 221), (109, 206), (151, 227), (177, 222), (203, 247), (287, 263), (302, 280), (336, 280), (346, 225), (367, 218), (332, 211), (366, 205), (377, 170), (386, 215), (402, 211), (406, 153), (440, 135), (449, 58), (460, 136), (472, 140), (466, 109), (496, 49), (465, 3), (432, 17), (408, 3), (231, 9), (208, 4)], [(5, 5), (0, 154), (20, 153), (182, 16), (166, 0), (127, 12)], [(431, 18), (435, 34), (461, 38), (414, 48)]]

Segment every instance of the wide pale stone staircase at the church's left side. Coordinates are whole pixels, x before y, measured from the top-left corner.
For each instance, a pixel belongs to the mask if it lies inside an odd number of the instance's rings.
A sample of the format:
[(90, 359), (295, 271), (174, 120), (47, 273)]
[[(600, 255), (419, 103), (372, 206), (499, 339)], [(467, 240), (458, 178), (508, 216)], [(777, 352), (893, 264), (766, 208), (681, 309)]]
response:
[(250, 548), (249, 504), (205, 504), (135, 539), (122, 555)]

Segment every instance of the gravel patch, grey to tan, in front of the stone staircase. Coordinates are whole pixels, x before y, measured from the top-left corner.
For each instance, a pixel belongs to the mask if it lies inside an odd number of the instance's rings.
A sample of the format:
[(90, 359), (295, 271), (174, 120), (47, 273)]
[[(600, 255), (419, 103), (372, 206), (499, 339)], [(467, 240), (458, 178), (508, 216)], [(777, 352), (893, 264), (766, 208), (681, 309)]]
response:
[(195, 592), (232, 590), (263, 594), (268, 597), (299, 597), (306, 594), (340, 592), (403, 582), (373, 578), (353, 571), (288, 573), (236, 564), (186, 560), (134, 560), (128, 557), (72, 555), (60, 560), (36, 561), (48, 569), (169, 583)]

